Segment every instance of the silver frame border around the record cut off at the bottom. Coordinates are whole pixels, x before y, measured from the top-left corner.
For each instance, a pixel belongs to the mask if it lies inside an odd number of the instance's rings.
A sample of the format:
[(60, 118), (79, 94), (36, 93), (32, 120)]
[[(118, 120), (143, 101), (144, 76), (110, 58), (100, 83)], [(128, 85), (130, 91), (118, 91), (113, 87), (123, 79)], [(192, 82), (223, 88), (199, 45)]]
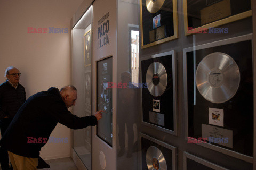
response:
[(172, 150), (172, 163), (173, 163), (172, 164), (172, 169), (173, 170), (177, 169), (177, 165), (176, 165), (177, 164), (177, 157), (176, 157), (176, 155), (177, 155), (176, 154), (177, 148), (172, 146), (172, 145), (169, 145), (168, 143), (165, 143), (165, 142), (159, 141), (159, 140), (157, 140), (155, 138), (149, 137), (148, 135), (143, 134), (143, 133), (139, 133), (139, 155), (140, 155), (139, 156), (139, 169), (142, 168), (141, 167), (141, 164), (142, 164), (142, 158), (141, 158), (141, 137), (146, 138), (146, 139), (148, 139), (148, 140), (150, 140), (152, 142), (157, 143), (158, 145), (161, 145), (161, 146), (163, 146), (163, 147), (165, 147), (167, 149)]

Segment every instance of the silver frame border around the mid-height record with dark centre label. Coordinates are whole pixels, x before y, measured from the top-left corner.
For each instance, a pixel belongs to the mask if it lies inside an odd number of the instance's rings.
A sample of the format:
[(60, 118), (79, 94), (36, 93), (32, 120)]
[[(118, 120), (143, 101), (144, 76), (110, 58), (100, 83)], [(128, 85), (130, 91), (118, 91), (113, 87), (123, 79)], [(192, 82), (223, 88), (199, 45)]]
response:
[(147, 60), (150, 58), (157, 58), (157, 57), (163, 57), (166, 55), (172, 55), (172, 83), (173, 83), (173, 131), (166, 129), (166, 128), (162, 128), (160, 126), (157, 125), (153, 125), (150, 124), (148, 122), (144, 122), (143, 121), (143, 107), (142, 107), (142, 88), (140, 89), (140, 100), (141, 100), (141, 124), (149, 126), (151, 128), (154, 128), (156, 130), (160, 130), (166, 133), (170, 133), (172, 135), (177, 136), (177, 74), (176, 74), (176, 56), (175, 56), (175, 50), (169, 51), (169, 52), (164, 52), (164, 53), (159, 53), (159, 54), (154, 54), (151, 56), (147, 56), (147, 57), (143, 57), (140, 58), (140, 82), (142, 81), (142, 75), (141, 75), (141, 61), (143, 60)]

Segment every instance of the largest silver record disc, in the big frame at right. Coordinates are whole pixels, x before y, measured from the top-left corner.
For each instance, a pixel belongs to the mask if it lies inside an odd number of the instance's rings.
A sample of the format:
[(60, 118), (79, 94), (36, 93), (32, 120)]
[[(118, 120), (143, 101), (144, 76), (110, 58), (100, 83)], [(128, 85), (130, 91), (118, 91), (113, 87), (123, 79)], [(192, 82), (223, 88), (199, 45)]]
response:
[(197, 89), (212, 103), (224, 103), (231, 99), (236, 94), (239, 83), (239, 67), (234, 59), (225, 53), (211, 53), (197, 66)]

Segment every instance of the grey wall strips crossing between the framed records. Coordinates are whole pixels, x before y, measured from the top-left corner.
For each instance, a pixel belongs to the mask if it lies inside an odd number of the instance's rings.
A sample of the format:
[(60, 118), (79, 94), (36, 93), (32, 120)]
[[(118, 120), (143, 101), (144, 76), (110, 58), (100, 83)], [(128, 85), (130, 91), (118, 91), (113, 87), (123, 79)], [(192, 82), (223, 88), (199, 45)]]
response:
[[(179, 39), (169, 41), (164, 44), (151, 46), (149, 48), (140, 50), (140, 58), (166, 52), (169, 50), (175, 50), (177, 57), (177, 82), (178, 82), (178, 136), (149, 128), (148, 126), (141, 125), (141, 113), (139, 114), (139, 132), (150, 135), (158, 140), (169, 143), (172, 146), (177, 147), (177, 169), (184, 169), (183, 167), (183, 151), (187, 151), (190, 154), (194, 154), (203, 159), (209, 160), (212, 163), (229, 169), (252, 169), (252, 164), (244, 162), (240, 159), (222, 154), (220, 152), (198, 146), (194, 143), (187, 143), (185, 140), (185, 113), (184, 113), (184, 94), (183, 94), (183, 48), (192, 47), (193, 45), (201, 45), (205, 43), (211, 43), (222, 39), (231, 37), (246, 35), (252, 33), (252, 18), (246, 18), (243, 20), (231, 22), (225, 25), (221, 25), (218, 28), (229, 28), (229, 33), (223, 34), (197, 34), (197, 35), (184, 35), (183, 29), (183, 3), (178, 1), (178, 25), (179, 25)], [(193, 43), (195, 42), (195, 43)], [(141, 106), (141, 104), (140, 104)]]

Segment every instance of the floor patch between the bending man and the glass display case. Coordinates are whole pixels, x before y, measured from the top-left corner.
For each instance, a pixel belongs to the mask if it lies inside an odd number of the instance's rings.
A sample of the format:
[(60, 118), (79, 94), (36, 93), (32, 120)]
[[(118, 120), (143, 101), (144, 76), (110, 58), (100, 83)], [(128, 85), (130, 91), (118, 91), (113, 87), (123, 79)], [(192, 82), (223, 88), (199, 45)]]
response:
[[(60, 169), (61, 170), (77, 170), (76, 165), (74, 164), (71, 157), (45, 160), (45, 162), (51, 166), (49, 168), (51, 170), (60, 170)], [(46, 169), (48, 168), (44, 168), (43, 170), (46, 170)]]

